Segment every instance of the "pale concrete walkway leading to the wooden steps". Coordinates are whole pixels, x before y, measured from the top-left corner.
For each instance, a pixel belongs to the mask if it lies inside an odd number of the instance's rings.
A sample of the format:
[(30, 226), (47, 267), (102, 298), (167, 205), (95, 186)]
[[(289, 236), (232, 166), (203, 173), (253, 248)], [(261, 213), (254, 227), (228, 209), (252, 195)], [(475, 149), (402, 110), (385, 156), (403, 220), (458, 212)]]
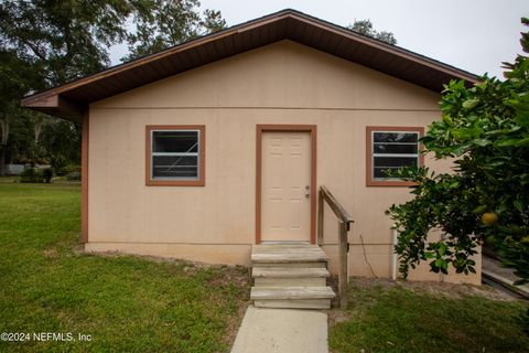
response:
[(327, 353), (327, 314), (248, 307), (231, 353)]

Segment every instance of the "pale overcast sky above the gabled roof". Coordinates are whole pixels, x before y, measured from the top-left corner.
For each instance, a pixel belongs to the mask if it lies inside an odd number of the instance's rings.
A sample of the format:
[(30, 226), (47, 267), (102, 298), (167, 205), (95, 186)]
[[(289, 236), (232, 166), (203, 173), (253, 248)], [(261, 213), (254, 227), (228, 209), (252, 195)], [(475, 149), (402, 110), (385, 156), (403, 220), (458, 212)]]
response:
[[(228, 26), (283, 9), (348, 25), (369, 19), (377, 31), (392, 32), (397, 45), (473, 74), (501, 77), (501, 62), (521, 54), (520, 23), (528, 0), (201, 0), (220, 10)], [(126, 46), (110, 52), (112, 64)]]

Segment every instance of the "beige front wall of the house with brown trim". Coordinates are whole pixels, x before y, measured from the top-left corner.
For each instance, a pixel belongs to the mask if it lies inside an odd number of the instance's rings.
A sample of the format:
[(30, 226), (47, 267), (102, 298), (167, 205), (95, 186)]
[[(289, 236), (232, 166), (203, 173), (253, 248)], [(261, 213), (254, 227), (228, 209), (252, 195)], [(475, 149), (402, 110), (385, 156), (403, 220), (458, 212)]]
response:
[[(255, 243), (256, 125), (317, 125), (317, 184), (356, 223), (350, 275), (391, 271), (384, 211), (407, 188), (366, 186), (366, 126), (423, 126), (440, 96), (328, 54), (279, 42), (90, 105), (88, 250), (249, 263)], [(145, 186), (145, 125), (205, 125), (205, 186)], [(440, 170), (446, 165), (427, 158)], [(336, 268), (336, 220), (325, 250)], [(418, 279), (439, 276), (418, 272)], [(453, 277), (460, 280), (458, 277)], [(478, 276), (466, 280), (477, 282)]]

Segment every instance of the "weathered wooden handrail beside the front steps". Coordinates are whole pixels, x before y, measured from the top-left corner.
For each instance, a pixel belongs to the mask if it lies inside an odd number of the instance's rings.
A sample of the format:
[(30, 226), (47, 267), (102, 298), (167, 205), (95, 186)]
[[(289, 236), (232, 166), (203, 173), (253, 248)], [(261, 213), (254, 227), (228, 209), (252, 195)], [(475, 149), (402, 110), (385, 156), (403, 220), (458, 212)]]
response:
[(339, 202), (324, 185), (320, 186), (317, 197), (317, 244), (323, 245), (323, 208), (324, 202), (327, 202), (331, 210), (338, 218), (338, 301), (341, 309), (347, 309), (347, 253), (349, 252), (349, 242), (347, 232), (350, 231), (353, 217), (345, 211)]

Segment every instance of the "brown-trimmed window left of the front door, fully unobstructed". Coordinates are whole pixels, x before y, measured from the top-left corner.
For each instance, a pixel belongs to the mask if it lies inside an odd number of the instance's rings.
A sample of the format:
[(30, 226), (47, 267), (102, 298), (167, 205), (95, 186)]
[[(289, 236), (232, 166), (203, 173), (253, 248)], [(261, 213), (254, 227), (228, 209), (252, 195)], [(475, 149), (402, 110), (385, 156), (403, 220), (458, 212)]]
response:
[(147, 126), (147, 185), (203, 186), (205, 127)]

